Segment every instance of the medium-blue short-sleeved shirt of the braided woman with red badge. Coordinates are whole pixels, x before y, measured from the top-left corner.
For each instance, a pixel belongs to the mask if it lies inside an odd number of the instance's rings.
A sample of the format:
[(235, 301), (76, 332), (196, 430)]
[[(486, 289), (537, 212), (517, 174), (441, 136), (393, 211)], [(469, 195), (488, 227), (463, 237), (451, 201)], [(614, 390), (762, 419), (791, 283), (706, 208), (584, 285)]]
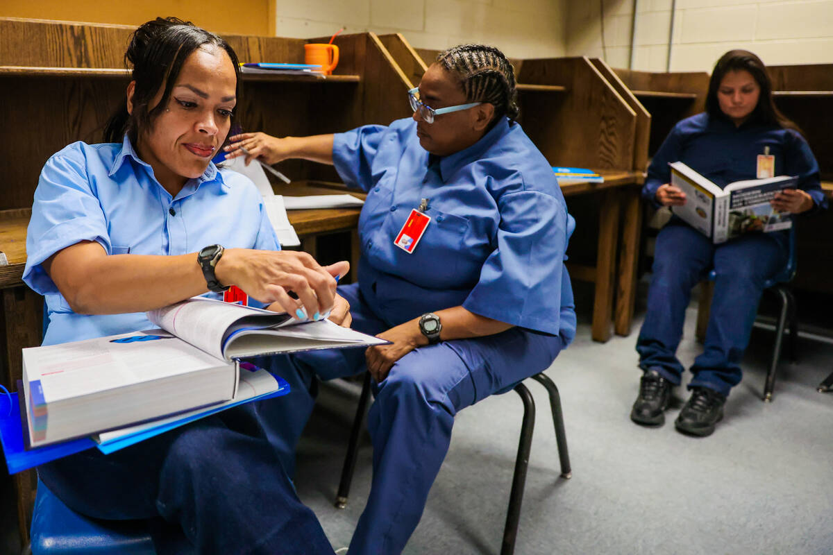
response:
[[(563, 260), (575, 222), (520, 125), (503, 118), (476, 144), (438, 158), (420, 146), (409, 118), (337, 134), (332, 155), (345, 183), (368, 192), (359, 286), (388, 325), (462, 305), (572, 339)], [(408, 254), (394, 240), (423, 198), (431, 223)]]

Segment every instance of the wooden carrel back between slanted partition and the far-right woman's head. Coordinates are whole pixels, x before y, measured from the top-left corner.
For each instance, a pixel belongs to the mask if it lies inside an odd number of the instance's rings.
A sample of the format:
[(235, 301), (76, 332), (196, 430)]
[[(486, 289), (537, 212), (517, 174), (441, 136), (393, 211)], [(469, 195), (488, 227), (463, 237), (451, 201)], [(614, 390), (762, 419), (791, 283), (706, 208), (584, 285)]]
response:
[(649, 157), (654, 156), (677, 121), (706, 110), (706, 91), (709, 88), (709, 74), (706, 72), (613, 71), (651, 114)]

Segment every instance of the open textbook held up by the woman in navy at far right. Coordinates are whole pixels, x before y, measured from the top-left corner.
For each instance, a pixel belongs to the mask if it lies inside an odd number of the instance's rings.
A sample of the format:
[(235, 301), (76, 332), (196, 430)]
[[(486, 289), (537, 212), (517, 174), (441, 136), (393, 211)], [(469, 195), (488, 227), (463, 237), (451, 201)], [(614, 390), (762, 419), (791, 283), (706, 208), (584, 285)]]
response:
[(723, 243), (751, 231), (778, 231), (792, 227), (792, 216), (772, 210), (776, 191), (795, 189), (798, 177), (735, 181), (723, 189), (682, 162), (672, 162), (671, 185), (686, 193), (686, 204), (671, 212), (709, 237)]

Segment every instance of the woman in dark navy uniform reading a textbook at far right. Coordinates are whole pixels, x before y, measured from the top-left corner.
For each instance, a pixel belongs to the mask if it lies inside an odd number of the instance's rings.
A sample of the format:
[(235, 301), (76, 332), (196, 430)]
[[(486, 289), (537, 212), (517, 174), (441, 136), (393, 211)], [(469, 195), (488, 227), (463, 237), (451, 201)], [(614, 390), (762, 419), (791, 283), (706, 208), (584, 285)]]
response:
[[(776, 176), (798, 176), (798, 188), (781, 191), (776, 211), (801, 214), (826, 206), (819, 166), (797, 127), (772, 99), (763, 62), (751, 52), (726, 52), (711, 74), (706, 113), (680, 121), (656, 151), (642, 195), (656, 206), (686, 202), (672, 186), (668, 164), (683, 161), (718, 186), (766, 175), (774, 156)], [(788, 232), (743, 235), (712, 245), (700, 232), (672, 217), (656, 238), (648, 310), (636, 350), (644, 370), (631, 419), (658, 425), (671, 387), (681, 383), (676, 359), (691, 288), (713, 268), (716, 272), (706, 344), (691, 366), (691, 398), (676, 419), (686, 434), (711, 434), (723, 416), (732, 386), (741, 381), (741, 358), (749, 343), (758, 301), (766, 280), (783, 270)]]

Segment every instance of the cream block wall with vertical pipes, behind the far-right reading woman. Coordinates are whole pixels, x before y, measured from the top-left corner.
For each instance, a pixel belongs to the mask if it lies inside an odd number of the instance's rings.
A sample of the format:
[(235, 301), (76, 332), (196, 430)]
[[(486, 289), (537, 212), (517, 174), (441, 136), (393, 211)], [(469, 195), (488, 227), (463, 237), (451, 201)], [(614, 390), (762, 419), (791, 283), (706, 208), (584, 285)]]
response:
[[(628, 67), (634, 0), (569, 0), (566, 55)], [(604, 23), (602, 49), (601, 27)], [(633, 69), (666, 70), (671, 0), (639, 0)], [(711, 72), (732, 48), (768, 65), (833, 62), (833, 0), (676, 0), (671, 71)]]

